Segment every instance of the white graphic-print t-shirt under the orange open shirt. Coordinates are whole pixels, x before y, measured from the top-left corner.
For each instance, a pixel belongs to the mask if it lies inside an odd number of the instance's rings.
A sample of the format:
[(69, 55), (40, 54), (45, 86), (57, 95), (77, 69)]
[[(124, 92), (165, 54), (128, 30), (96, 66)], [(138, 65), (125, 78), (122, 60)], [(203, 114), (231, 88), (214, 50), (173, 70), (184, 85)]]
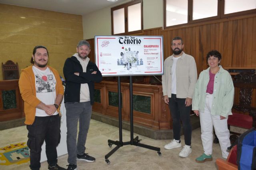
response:
[[(35, 66), (32, 66), (32, 70), (36, 80), (36, 98), (46, 105), (52, 105), (56, 99), (56, 79), (50, 68), (46, 70), (40, 70)], [(57, 115), (56, 111), (53, 115)], [(44, 117), (48, 116), (44, 110), (36, 108), (36, 116)]]

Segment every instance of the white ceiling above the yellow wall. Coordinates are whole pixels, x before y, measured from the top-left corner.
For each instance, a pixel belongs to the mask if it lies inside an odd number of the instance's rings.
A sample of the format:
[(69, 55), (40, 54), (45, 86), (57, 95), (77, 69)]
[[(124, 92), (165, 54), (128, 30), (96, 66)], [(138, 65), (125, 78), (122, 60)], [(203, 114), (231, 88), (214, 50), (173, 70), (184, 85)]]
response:
[(0, 3), (85, 15), (125, 1), (127, 0), (118, 0), (117, 2), (109, 2), (107, 0), (0, 0)]

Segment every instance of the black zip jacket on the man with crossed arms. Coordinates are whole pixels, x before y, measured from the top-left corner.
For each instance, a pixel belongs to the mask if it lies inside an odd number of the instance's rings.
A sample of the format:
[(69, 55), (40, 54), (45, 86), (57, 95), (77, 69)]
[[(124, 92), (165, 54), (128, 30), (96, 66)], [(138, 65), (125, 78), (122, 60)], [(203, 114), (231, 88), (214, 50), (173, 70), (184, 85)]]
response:
[[(97, 74), (91, 74), (96, 71)], [(79, 72), (76, 76), (74, 72)], [(102, 74), (96, 64), (89, 61), (86, 72), (83, 72), (82, 65), (74, 56), (66, 59), (63, 67), (64, 77), (66, 79), (66, 88), (64, 92), (64, 103), (66, 102), (80, 102), (80, 88), (81, 84), (87, 83), (90, 92), (90, 103), (94, 103), (94, 82), (102, 80)]]

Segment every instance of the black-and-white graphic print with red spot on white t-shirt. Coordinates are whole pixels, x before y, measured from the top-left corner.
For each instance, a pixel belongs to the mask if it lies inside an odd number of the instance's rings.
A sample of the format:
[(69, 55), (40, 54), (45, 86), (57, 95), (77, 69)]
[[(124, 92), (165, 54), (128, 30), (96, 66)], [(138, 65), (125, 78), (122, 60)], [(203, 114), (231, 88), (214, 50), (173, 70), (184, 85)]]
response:
[(36, 74), (35, 76), (37, 93), (55, 92), (56, 81), (52, 74), (43, 75), (42, 77)]

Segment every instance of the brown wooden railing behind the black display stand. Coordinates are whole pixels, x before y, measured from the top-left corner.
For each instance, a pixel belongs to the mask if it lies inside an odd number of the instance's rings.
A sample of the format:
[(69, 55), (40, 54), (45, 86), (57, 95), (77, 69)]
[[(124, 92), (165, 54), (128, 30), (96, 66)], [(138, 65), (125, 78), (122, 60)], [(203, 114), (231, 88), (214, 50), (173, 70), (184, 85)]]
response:
[[(95, 102), (92, 109), (103, 115), (118, 117), (118, 107), (111, 106), (109, 92), (117, 92), (117, 82), (102, 81), (95, 84), (95, 89), (100, 90), (100, 103)], [(121, 83), (122, 93), (122, 119), (130, 121), (130, 89), (129, 83)], [(133, 84), (133, 95), (150, 98), (150, 113), (133, 111), (134, 123), (150, 127), (152, 129), (172, 129), (172, 120), (168, 105), (162, 100), (162, 85)], [(143, 102), (143, 101), (142, 101)], [(146, 108), (145, 108), (146, 109)], [(147, 108), (148, 110), (148, 108)]]

